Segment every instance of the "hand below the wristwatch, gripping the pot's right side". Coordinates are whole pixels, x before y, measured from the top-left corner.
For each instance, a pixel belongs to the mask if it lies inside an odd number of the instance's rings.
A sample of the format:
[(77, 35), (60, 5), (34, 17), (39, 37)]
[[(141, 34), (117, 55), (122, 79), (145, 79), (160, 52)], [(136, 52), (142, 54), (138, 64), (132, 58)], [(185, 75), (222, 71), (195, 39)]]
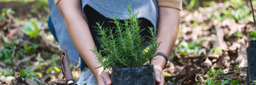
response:
[(161, 69), (162, 67), (160, 66), (155, 66), (154, 65), (154, 69), (155, 69), (155, 74), (156, 74), (156, 83), (157, 85), (164, 85), (165, 81), (164, 81), (164, 73)]

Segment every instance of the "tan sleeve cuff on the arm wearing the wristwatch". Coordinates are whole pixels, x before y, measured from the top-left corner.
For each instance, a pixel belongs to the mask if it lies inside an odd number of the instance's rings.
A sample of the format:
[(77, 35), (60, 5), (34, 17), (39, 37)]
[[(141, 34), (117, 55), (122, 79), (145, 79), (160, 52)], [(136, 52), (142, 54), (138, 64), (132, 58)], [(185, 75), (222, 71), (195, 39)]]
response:
[(182, 9), (181, 0), (157, 0), (159, 7), (170, 7), (175, 9)]

